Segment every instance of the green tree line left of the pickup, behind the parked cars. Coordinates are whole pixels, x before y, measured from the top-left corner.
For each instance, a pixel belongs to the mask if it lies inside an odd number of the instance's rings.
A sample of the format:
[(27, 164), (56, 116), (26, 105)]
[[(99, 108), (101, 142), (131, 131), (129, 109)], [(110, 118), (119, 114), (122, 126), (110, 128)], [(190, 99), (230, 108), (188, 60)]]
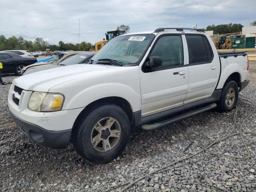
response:
[[(89, 51), (92, 44), (89, 42), (81, 42), (79, 44), (80, 51)], [(78, 44), (64, 43), (59, 41), (58, 45), (49, 44), (47, 41), (44, 41), (42, 38), (36, 38), (34, 41), (25, 40), (22, 37), (12, 36), (6, 38), (4, 35), (0, 35), (0, 51), (3, 50), (28, 50), (29, 52), (35, 51), (45, 51), (46, 47), (49, 47), (51, 51), (56, 50), (78, 50)]]

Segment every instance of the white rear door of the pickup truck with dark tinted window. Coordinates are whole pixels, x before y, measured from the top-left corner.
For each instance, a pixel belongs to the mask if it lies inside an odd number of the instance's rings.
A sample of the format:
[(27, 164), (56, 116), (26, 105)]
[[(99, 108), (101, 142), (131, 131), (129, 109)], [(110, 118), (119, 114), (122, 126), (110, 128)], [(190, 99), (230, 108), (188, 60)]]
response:
[(184, 104), (212, 95), (220, 76), (220, 61), (203, 34), (186, 34), (188, 47), (188, 93)]

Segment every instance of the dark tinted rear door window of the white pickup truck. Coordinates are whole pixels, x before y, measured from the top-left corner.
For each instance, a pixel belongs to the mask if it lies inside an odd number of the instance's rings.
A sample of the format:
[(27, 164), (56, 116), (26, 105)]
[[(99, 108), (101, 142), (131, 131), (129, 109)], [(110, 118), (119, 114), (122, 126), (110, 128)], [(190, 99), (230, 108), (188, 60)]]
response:
[(204, 36), (186, 35), (189, 64), (203, 64), (212, 59), (210, 45)]

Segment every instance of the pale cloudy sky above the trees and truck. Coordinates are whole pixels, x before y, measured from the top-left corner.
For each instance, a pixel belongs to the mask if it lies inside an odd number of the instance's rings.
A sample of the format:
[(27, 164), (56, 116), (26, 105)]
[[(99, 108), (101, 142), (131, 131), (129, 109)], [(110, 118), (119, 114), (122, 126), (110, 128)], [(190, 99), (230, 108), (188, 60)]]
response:
[(95, 43), (124, 24), (130, 32), (159, 27), (206, 28), (256, 20), (256, 0), (0, 0), (0, 35)]

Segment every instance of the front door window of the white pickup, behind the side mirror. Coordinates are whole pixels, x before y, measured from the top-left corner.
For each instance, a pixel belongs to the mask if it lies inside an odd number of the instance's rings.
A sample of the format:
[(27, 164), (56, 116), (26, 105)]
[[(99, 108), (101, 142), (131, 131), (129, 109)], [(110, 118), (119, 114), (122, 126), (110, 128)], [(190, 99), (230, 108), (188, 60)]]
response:
[(162, 59), (162, 65), (157, 68), (166, 68), (183, 65), (183, 46), (181, 36), (163, 36), (154, 46), (150, 56)]

